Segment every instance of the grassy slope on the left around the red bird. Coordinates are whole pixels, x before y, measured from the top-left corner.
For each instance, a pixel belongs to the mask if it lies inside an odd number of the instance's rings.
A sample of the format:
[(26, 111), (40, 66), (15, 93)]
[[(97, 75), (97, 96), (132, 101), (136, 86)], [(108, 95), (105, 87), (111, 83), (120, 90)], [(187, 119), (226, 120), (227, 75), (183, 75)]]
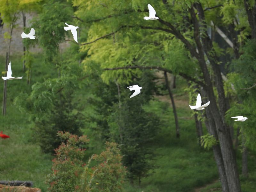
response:
[[(0, 180), (30, 180), (34, 186), (46, 190), (44, 180), (51, 170), (52, 156), (41, 152), (36, 141), (31, 137), (27, 114), (21, 113), (13, 104), (14, 98), (20, 92), (30, 92), (31, 86), (26, 83), (26, 75), (22, 71), (20, 56), (12, 56), (12, 75), (23, 76), (22, 80), (7, 81), (6, 116), (2, 116), (0, 131), (10, 136), (10, 139), (0, 139)], [(1, 71), (4, 71), (5, 58), (0, 58)], [(42, 58), (36, 57), (32, 71), (32, 84), (43, 81), (53, 75), (51, 66), (44, 66)], [(1, 81), (0, 90), (3, 90)], [(3, 95), (0, 95), (3, 100)]]

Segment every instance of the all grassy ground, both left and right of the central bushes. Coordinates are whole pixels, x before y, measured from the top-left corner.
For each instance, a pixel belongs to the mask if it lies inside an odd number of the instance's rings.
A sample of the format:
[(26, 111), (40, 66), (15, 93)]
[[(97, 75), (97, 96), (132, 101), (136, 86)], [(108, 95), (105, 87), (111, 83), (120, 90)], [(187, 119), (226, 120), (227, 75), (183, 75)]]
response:
[[(5, 58), (0, 57), (0, 70), (4, 70)], [(44, 154), (31, 137), (28, 116), (21, 113), (13, 104), (14, 98), (20, 92), (30, 92), (31, 86), (26, 83), (25, 73), (19, 56), (11, 57), (14, 76), (22, 76), (22, 80), (8, 81), (7, 85), (7, 115), (0, 116), (0, 131), (10, 135), (10, 139), (0, 140), (0, 180), (31, 180), (34, 186), (46, 191), (44, 181), (51, 171), (52, 156)], [(32, 84), (41, 82), (50, 76), (57, 76), (53, 66), (45, 66), (40, 55), (32, 71)], [(3, 90), (3, 81), (0, 90)], [(217, 167), (212, 151), (206, 151), (198, 146), (194, 118), (188, 108), (188, 97), (183, 88), (186, 82), (177, 78), (177, 89), (173, 90), (177, 104), (180, 124), (180, 139), (176, 138), (175, 123), (170, 105), (170, 99), (158, 97), (151, 101), (145, 110), (154, 110), (161, 118), (161, 130), (156, 136), (152, 148), (156, 152), (152, 164), (156, 166), (153, 172), (142, 179), (141, 186), (137, 183), (132, 187), (125, 183), (126, 192), (189, 192), (200, 186), (201, 192), (221, 191)], [(2, 94), (0, 95), (2, 100)], [(206, 131), (204, 130), (206, 133)], [(92, 139), (93, 141), (93, 139)], [(91, 153), (91, 152), (88, 152)], [(238, 164), (241, 170), (241, 155), (238, 153)], [(256, 181), (255, 155), (250, 153), (249, 179), (241, 178), (243, 191), (254, 191)], [(252, 170), (252, 171), (251, 171)], [(198, 191), (199, 192), (199, 191)]]

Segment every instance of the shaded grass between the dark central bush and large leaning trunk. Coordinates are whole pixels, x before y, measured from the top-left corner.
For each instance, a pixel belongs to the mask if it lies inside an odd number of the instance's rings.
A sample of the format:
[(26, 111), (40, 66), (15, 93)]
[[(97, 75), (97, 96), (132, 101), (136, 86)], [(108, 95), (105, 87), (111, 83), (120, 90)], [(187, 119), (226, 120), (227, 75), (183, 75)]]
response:
[[(154, 146), (156, 169), (142, 180), (141, 187), (127, 186), (134, 192), (188, 192), (218, 178), (217, 167), (211, 151), (200, 148), (196, 138), (195, 121), (188, 107), (188, 98), (182, 90), (186, 86), (180, 78), (177, 89), (173, 90), (177, 103), (180, 125), (180, 138), (176, 138), (175, 122), (168, 97), (156, 98), (146, 110), (152, 110), (162, 119), (162, 129), (156, 137)], [(161, 102), (164, 100), (165, 102)], [(204, 130), (205, 131), (205, 130)]]

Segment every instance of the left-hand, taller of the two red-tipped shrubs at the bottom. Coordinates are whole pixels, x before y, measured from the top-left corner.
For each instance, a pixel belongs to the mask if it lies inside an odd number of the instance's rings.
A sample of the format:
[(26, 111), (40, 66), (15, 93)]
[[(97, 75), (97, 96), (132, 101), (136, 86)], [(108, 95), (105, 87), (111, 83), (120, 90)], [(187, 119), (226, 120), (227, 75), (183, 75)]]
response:
[(89, 139), (86, 136), (78, 137), (69, 132), (58, 132), (58, 136), (64, 141), (59, 148), (55, 149), (56, 158), (52, 160), (52, 173), (46, 180), (46, 183), (50, 185), (48, 191), (77, 191), (85, 151), (81, 145), (88, 143)]

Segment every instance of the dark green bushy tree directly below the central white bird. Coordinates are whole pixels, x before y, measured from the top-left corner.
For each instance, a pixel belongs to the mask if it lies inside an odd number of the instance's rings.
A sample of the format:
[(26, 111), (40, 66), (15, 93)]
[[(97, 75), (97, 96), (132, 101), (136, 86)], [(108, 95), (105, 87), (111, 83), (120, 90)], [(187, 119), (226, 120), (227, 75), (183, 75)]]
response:
[(122, 144), (123, 163), (131, 180), (140, 180), (154, 168), (149, 163), (154, 154), (149, 146), (157, 133), (159, 119), (145, 112), (142, 103), (142, 96), (137, 96), (122, 102), (120, 108), (116, 104), (115, 112), (108, 119), (110, 137)]

